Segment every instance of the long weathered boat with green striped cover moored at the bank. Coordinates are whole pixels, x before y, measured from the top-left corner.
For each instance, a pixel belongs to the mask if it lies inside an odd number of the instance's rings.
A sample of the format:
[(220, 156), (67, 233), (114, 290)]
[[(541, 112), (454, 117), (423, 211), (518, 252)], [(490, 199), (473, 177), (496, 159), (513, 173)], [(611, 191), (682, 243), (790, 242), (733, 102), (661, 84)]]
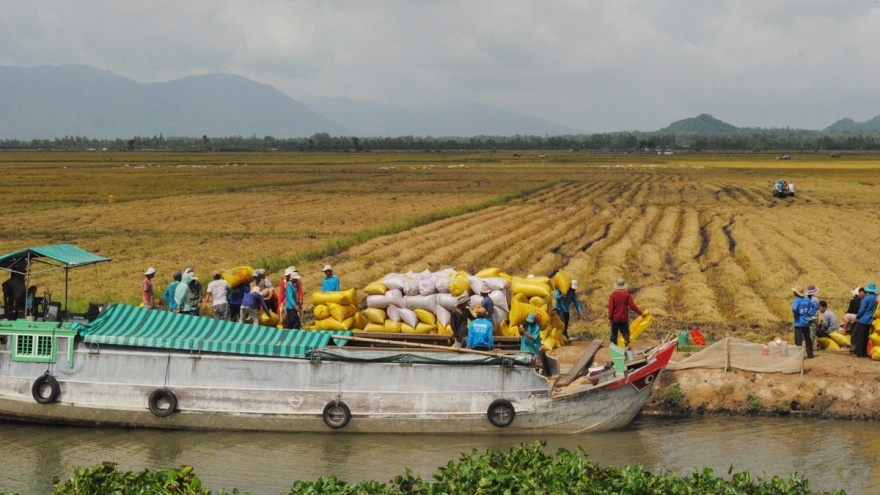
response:
[(0, 417), (296, 432), (602, 431), (632, 421), (675, 349), (663, 342), (580, 377), (597, 342), (567, 376), (547, 378), (524, 353), (344, 345), (351, 335), (126, 305), (88, 325), (0, 321)]

